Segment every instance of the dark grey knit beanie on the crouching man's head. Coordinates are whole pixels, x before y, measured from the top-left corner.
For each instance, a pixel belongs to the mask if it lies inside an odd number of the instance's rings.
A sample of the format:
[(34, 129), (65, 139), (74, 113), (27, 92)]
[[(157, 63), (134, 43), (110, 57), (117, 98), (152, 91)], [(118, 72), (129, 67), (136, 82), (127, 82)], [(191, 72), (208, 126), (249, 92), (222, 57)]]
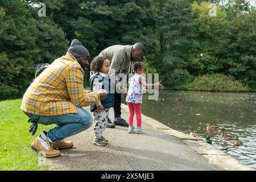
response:
[(77, 39), (72, 40), (67, 52), (71, 53), (75, 57), (90, 56), (89, 51), (82, 46), (82, 43)]

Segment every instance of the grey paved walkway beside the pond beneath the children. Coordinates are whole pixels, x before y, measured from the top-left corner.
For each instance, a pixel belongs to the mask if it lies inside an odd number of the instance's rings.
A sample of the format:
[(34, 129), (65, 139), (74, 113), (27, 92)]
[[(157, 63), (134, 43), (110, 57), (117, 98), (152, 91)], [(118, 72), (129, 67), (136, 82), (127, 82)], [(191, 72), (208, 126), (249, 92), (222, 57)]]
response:
[[(122, 117), (127, 120), (127, 107), (122, 105), (122, 108)], [(113, 119), (113, 109), (110, 118)], [(107, 128), (104, 137), (109, 143), (105, 147), (92, 144), (92, 126), (65, 139), (72, 140), (74, 147), (61, 150), (59, 158), (48, 161), (53, 170), (222, 170), (183, 140), (168, 134), (168, 130), (152, 127), (151, 122), (160, 125), (142, 115), (144, 133), (141, 135), (128, 134), (127, 127)]]

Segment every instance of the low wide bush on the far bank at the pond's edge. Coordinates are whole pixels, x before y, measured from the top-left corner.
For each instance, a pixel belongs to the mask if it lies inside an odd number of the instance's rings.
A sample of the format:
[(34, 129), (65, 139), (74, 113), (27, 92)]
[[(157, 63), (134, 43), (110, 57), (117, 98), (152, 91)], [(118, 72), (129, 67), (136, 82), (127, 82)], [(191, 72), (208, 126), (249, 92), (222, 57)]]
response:
[(202, 91), (228, 91), (228, 92), (248, 92), (250, 88), (241, 81), (235, 80), (232, 76), (225, 76), (216, 73), (215, 75), (205, 75), (196, 77), (191, 84), (184, 86), (187, 90)]

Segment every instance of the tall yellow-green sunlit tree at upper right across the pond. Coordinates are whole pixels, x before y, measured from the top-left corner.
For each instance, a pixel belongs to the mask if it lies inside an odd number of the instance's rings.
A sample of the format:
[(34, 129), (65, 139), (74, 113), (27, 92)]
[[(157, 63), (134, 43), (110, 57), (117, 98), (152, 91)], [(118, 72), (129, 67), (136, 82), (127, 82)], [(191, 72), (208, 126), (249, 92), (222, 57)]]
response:
[(226, 14), (217, 6), (216, 16), (209, 14), (212, 7), (209, 2), (200, 5), (192, 3), (191, 9), (196, 24), (196, 42), (199, 47), (191, 53), (189, 72), (193, 75), (224, 72), (224, 61), (221, 59), (224, 50), (221, 44), (225, 42), (228, 20)]

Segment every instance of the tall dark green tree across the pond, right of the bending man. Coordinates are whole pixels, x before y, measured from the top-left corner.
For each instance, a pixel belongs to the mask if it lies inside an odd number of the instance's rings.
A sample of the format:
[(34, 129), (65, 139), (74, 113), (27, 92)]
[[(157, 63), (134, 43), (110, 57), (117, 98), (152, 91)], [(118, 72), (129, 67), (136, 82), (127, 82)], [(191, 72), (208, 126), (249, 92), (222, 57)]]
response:
[(167, 0), (155, 1), (153, 6), (159, 41), (159, 48), (155, 51), (157, 70), (164, 85), (175, 88), (190, 77), (186, 69), (188, 53), (196, 48), (190, 4), (187, 1)]

